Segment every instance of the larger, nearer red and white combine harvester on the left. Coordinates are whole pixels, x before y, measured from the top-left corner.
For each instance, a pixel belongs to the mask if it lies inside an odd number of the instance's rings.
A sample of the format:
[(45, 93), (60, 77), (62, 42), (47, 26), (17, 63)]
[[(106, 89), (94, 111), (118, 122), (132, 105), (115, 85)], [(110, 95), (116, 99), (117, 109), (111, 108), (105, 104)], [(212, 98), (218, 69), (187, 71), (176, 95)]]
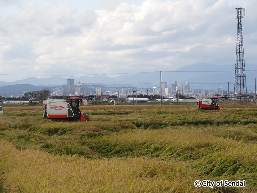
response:
[(44, 105), (44, 118), (53, 121), (86, 121), (79, 106), (83, 98), (47, 99)]

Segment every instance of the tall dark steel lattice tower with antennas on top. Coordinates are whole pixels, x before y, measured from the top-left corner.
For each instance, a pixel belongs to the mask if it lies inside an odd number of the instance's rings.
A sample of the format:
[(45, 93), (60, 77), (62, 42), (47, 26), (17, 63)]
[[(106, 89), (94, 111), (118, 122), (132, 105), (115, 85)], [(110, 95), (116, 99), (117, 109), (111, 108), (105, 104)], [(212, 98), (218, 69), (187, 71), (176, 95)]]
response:
[(238, 7), (237, 10), (237, 53), (235, 69), (234, 101), (244, 103), (247, 98), (246, 70), (242, 34), (242, 18), (245, 18), (245, 8)]

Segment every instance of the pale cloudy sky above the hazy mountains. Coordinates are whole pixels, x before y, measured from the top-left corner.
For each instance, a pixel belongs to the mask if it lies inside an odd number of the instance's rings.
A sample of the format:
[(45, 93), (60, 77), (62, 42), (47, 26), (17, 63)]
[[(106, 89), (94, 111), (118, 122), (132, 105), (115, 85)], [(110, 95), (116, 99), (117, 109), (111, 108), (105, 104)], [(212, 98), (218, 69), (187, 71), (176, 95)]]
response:
[(257, 64), (257, 0), (0, 0), (0, 81), (234, 64), (235, 7)]

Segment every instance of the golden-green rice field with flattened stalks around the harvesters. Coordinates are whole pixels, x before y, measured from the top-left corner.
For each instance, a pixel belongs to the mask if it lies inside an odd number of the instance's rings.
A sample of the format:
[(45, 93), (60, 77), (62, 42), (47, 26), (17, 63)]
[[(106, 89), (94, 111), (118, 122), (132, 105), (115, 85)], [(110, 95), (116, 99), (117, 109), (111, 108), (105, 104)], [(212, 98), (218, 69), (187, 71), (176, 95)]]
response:
[(81, 106), (87, 122), (53, 122), (42, 106), (3, 106), (0, 193), (257, 192), (256, 107)]

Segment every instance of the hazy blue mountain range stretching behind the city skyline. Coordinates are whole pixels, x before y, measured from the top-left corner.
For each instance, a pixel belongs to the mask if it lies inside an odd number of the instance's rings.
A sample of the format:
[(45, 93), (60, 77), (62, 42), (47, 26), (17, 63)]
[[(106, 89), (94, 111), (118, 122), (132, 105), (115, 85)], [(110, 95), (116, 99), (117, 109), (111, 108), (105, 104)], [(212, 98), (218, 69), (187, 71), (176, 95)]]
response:
[[(254, 82), (256, 77), (257, 65), (245, 64), (246, 65), (246, 82), (247, 89), (254, 88)], [(200, 72), (200, 71), (212, 71), (212, 72)], [(226, 71), (226, 72), (219, 72)], [(172, 72), (162, 72), (162, 81), (168, 83), (168, 87), (171, 83), (177, 81), (180, 85), (185, 85), (187, 81), (191, 88), (199, 89), (216, 89), (217, 87), (222, 87), (224, 90), (227, 88), (227, 83), (231, 83), (231, 90), (234, 86), (234, 76), (235, 76), (235, 65), (214, 65), (208, 63), (198, 63), (189, 66), (182, 67), (176, 71)], [(122, 87), (122, 86), (135, 86), (140, 88), (152, 88), (160, 86), (160, 72), (149, 72), (149, 73), (136, 73), (136, 74), (124, 74), (118, 77), (108, 77), (108, 76), (81, 76), (76, 77), (58, 77), (53, 76), (49, 78), (35, 78), (29, 77), (24, 80), (17, 80), (13, 82), (0, 81), (0, 86), (16, 85), (16, 84), (30, 84), (35, 85), (37, 89), (42, 89), (42, 87), (56, 87), (60, 85), (67, 85), (67, 79), (74, 79), (74, 84), (84, 83), (84, 85), (93, 86), (100, 85), (106, 87)], [(27, 89), (26, 89), (27, 88)], [(30, 87), (29, 87), (30, 88)], [(32, 88), (32, 87), (31, 87)], [(93, 88), (92, 88), (93, 89)], [(28, 90), (25, 87), (24, 90)], [(9, 91), (8, 91), (9, 92)], [(6, 93), (8, 93), (6, 91)], [(0, 88), (0, 94), (2, 94), (2, 87)]]

